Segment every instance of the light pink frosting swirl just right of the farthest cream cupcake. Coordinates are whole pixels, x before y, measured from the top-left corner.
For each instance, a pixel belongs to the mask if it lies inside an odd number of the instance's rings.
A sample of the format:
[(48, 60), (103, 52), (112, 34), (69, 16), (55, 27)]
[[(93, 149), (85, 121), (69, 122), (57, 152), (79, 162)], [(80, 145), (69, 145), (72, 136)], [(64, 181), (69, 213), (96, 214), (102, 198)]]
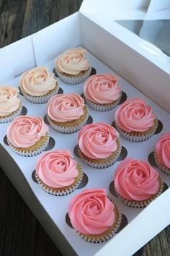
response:
[(86, 80), (84, 95), (89, 101), (107, 104), (120, 98), (118, 78), (112, 74), (94, 74)]

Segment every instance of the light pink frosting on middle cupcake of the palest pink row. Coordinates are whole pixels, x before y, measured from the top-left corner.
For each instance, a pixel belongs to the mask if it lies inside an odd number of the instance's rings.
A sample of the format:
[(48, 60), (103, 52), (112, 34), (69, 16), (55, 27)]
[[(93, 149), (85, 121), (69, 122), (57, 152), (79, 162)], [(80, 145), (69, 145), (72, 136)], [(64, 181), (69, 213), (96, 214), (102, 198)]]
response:
[(84, 99), (76, 93), (58, 94), (48, 101), (48, 116), (54, 121), (66, 122), (84, 115)]

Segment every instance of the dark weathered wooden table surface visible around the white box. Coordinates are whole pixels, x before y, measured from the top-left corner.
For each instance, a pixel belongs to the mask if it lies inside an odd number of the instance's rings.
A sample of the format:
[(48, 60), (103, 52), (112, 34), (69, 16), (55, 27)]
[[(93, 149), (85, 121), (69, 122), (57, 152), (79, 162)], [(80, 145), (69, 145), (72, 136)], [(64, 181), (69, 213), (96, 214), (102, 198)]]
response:
[[(0, 0), (0, 48), (78, 11), (81, 2), (82, 0)], [(0, 255), (62, 255), (1, 168)], [(144, 255), (170, 255), (170, 226), (134, 256)]]

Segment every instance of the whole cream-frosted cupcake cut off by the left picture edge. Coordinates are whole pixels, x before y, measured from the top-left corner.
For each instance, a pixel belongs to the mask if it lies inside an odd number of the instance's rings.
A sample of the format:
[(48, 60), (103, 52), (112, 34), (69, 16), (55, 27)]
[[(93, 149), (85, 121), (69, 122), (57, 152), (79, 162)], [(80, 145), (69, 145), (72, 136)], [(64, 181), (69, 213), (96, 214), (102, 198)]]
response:
[(22, 112), (22, 101), (18, 98), (17, 88), (0, 86), (0, 124), (12, 121)]

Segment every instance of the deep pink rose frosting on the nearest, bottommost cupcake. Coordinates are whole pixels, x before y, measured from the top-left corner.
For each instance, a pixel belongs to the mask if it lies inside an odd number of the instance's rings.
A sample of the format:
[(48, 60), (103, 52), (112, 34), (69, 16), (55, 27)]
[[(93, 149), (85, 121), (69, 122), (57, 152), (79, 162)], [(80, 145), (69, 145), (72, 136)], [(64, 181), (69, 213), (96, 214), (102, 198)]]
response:
[(106, 189), (85, 189), (69, 204), (68, 215), (73, 228), (83, 234), (102, 234), (115, 223), (115, 205)]

